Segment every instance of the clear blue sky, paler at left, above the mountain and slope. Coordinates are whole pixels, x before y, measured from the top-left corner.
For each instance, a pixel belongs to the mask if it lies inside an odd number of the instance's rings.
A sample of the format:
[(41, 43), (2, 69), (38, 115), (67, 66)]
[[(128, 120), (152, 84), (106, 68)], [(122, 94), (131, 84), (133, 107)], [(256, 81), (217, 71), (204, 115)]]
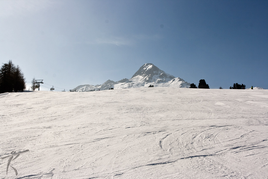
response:
[(9, 59), (41, 90), (130, 79), (145, 63), (197, 86), (268, 89), (268, 1), (0, 0)]

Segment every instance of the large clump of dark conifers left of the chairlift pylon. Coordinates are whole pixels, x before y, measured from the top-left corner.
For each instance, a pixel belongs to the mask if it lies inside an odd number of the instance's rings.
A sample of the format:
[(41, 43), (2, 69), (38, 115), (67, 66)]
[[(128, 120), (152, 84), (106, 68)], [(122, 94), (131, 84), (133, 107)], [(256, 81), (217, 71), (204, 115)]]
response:
[(26, 89), (26, 79), (19, 65), (12, 60), (4, 63), (0, 69), (0, 93), (19, 92)]

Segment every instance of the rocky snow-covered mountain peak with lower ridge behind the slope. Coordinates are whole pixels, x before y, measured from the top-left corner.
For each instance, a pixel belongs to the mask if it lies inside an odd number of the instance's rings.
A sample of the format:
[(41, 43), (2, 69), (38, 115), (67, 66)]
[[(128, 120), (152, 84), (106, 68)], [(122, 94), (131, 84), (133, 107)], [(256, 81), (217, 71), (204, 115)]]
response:
[(146, 63), (132, 76), (132, 78), (121, 79), (114, 82), (107, 80), (101, 85), (84, 84), (74, 88), (77, 92), (108, 90), (110, 88), (122, 89), (122, 88), (138, 88), (148, 87), (154, 85), (154, 87), (190, 87), (190, 83), (185, 82), (183, 79), (167, 74), (163, 70), (151, 63)]

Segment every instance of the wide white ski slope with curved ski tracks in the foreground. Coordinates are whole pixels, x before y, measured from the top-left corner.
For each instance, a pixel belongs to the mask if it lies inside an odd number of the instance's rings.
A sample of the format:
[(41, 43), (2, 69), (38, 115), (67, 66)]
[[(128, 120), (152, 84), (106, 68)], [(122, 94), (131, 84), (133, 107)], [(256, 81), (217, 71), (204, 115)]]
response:
[(0, 103), (0, 178), (268, 178), (268, 90), (35, 91)]

